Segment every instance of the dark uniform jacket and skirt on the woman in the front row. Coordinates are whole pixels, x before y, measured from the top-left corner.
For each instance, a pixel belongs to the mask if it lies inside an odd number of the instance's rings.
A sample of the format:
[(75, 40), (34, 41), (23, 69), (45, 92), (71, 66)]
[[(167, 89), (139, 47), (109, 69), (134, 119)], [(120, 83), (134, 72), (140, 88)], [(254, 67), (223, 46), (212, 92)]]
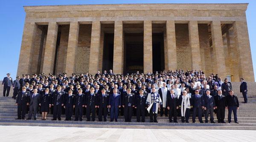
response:
[(49, 104), (52, 102), (52, 94), (51, 93), (43, 93), (40, 95), (39, 104), (41, 104), (41, 112), (49, 112)]

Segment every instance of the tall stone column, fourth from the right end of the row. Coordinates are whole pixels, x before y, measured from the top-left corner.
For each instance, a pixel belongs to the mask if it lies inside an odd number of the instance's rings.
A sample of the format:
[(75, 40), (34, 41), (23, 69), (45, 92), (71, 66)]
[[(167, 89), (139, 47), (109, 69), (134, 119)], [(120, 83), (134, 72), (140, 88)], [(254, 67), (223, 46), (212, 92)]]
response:
[(176, 50), (176, 36), (175, 36), (175, 21), (166, 21), (166, 43), (167, 51), (165, 55), (167, 56), (166, 70), (176, 70), (177, 69), (177, 50)]

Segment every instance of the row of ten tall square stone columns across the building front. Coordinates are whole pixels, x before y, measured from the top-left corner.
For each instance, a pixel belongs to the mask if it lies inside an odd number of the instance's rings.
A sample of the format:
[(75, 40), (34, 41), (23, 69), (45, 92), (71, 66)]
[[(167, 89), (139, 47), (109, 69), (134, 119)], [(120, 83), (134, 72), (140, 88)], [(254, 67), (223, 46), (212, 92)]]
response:
[[(31, 59), (26, 55), (31, 54), (35, 38), (35, 23), (25, 23), (23, 32), (23, 41), (20, 51), (20, 61), (18, 67), (18, 73), (29, 72)], [(248, 76), (246, 74), (253, 75), (253, 67), (251, 55), (247, 55), (250, 51), (249, 37), (247, 32), (246, 21), (235, 21), (234, 35), (236, 39), (236, 46), (239, 52), (239, 76)], [(224, 49), (221, 33), (221, 21), (212, 21), (211, 23), (212, 32), (212, 47), (214, 60), (213, 64), (215, 67), (214, 72), (218, 72), (219, 76), (226, 76), (225, 61), (224, 61)], [(49, 22), (47, 41), (45, 47), (43, 72), (49, 73), (53, 71), (54, 58), (55, 58), (55, 46), (58, 35), (58, 23)], [(91, 45), (90, 45), (90, 61), (89, 61), (89, 72), (95, 73), (99, 69), (99, 55), (100, 55), (100, 35), (101, 35), (101, 23), (100, 21), (92, 22), (91, 32)], [(78, 46), (79, 37), (79, 23), (70, 22), (70, 33), (67, 47), (67, 60), (65, 72), (71, 74), (75, 72), (75, 57), (76, 48)], [(144, 72), (151, 72), (152, 67), (152, 21), (144, 21), (144, 48), (143, 48), (143, 67)], [(191, 65), (192, 70), (201, 69), (201, 54), (200, 44), (198, 36), (198, 21), (189, 21), (189, 44), (191, 46)], [(166, 21), (166, 49), (165, 56), (166, 70), (177, 69), (177, 53), (176, 53), (176, 37), (175, 37), (175, 21)], [(113, 49), (113, 72), (123, 72), (123, 21), (114, 22), (114, 49)], [(250, 53), (250, 52), (249, 52)], [(209, 59), (205, 59), (209, 60)], [(244, 64), (245, 63), (245, 64)], [(247, 69), (247, 70), (245, 70)], [(249, 78), (246, 78), (249, 79)]]

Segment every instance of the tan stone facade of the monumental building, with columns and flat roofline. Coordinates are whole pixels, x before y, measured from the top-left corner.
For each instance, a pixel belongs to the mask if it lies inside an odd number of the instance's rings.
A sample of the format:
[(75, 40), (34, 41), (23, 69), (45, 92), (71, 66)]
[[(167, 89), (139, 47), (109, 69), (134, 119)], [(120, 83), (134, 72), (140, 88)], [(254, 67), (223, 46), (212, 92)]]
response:
[[(202, 69), (207, 75), (218, 73), (222, 78), (230, 75), (232, 81), (241, 77), (254, 81), (245, 15), (247, 5), (25, 6), (17, 75), (102, 71), (104, 35), (109, 33), (106, 32), (108, 28), (102, 30), (102, 24), (114, 25), (113, 71), (123, 73), (126, 62), (124, 35), (127, 33), (123, 25), (135, 23), (143, 24), (144, 72), (153, 70), (152, 25), (163, 24), (163, 31), (157, 32), (163, 33), (166, 70)], [(141, 32), (140, 27), (129, 30)]]

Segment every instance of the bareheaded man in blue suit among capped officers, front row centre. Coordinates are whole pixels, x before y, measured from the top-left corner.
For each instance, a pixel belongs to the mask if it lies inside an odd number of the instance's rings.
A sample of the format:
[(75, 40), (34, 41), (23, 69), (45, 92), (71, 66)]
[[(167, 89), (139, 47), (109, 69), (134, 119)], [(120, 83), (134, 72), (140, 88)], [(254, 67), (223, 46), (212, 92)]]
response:
[(122, 101), (121, 101), (121, 95), (117, 93), (117, 89), (113, 89), (113, 94), (109, 97), (109, 108), (110, 108), (110, 121), (113, 122), (113, 119), (115, 118), (115, 121), (117, 122), (118, 119), (118, 108), (121, 107)]

